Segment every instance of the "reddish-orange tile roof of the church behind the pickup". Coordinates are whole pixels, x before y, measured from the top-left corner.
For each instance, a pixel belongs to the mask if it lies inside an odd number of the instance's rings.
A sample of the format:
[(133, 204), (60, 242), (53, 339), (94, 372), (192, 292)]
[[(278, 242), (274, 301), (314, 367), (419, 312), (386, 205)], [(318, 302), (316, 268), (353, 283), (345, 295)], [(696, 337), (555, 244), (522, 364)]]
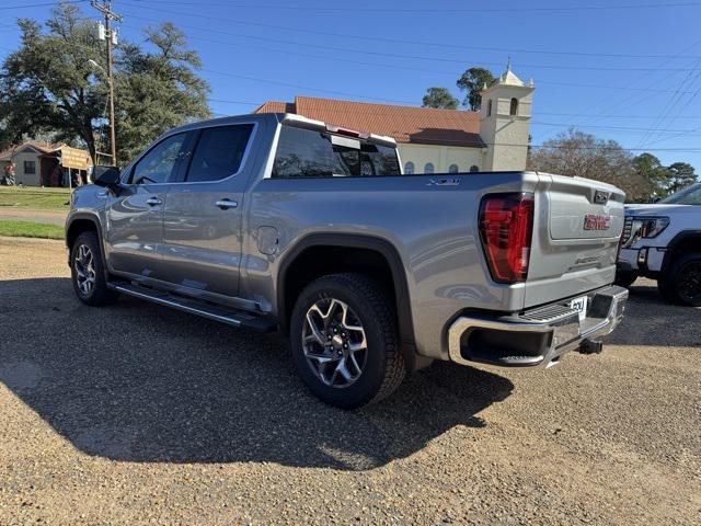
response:
[(476, 112), (296, 96), (255, 113), (296, 113), (327, 124), (393, 137), (398, 142), (482, 148)]

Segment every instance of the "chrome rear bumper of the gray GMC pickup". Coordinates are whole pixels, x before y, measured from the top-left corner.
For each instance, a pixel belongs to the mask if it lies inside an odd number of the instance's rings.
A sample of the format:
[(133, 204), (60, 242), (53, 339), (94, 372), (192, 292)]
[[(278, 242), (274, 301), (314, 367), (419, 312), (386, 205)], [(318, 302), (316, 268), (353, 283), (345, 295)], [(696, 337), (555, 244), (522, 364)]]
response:
[(586, 296), (582, 321), (570, 300), (520, 315), (461, 316), (448, 329), (450, 359), (462, 365), (548, 367), (568, 351), (598, 352), (600, 339), (623, 317), (628, 290), (608, 286)]

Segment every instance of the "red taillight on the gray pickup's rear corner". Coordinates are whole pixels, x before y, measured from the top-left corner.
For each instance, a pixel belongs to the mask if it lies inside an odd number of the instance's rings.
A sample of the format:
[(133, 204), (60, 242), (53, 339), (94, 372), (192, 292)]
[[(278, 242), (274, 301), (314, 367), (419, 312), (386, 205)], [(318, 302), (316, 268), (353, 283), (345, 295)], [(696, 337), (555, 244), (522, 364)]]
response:
[(492, 279), (525, 282), (533, 233), (533, 194), (492, 194), (480, 205), (480, 237)]

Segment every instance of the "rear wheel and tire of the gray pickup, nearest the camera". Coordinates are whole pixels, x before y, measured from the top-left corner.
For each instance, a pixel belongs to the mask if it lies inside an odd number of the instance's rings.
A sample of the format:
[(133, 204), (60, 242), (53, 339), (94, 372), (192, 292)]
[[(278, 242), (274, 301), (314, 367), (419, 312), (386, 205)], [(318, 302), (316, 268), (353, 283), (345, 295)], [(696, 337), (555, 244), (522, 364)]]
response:
[(394, 302), (361, 274), (323, 276), (302, 290), (291, 315), (290, 347), (309, 389), (342, 409), (388, 397), (406, 374)]

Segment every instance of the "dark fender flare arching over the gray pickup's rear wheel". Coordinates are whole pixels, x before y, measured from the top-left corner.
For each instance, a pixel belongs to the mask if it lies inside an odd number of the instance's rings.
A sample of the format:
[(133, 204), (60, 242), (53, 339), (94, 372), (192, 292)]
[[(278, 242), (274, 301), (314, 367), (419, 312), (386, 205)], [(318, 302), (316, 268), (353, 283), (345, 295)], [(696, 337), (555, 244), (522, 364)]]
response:
[[(283, 327), (287, 324), (285, 285), (286, 274), (297, 258), (308, 249), (314, 247), (343, 247), (348, 249), (365, 249), (378, 252), (388, 262), (392, 273), (392, 283), (397, 296), (397, 318), (399, 322), (400, 340), (404, 346), (414, 347), (414, 323), (412, 320), (411, 302), (406, 272), (399, 252), (392, 243), (375, 236), (357, 233), (310, 233), (297, 241), (285, 254), (277, 271), (277, 313)], [(285, 327), (286, 328), (286, 327)]]

